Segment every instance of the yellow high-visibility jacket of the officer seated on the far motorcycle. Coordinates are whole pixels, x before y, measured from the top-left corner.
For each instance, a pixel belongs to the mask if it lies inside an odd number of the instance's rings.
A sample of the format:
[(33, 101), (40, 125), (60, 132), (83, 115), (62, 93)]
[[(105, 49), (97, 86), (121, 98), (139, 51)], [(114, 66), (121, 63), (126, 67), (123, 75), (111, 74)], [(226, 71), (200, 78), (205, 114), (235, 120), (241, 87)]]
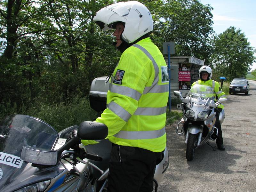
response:
[[(191, 85), (191, 88), (195, 85), (195, 84), (200, 84), (200, 85), (207, 85), (207, 86), (210, 86), (212, 87), (215, 95), (214, 95), (214, 100), (217, 101), (216, 99), (216, 96), (218, 98), (226, 98), (226, 95), (225, 95), (225, 92), (223, 92), (221, 90), (221, 87), (220, 87), (220, 84), (217, 82), (217, 81), (213, 81), (212, 79), (208, 80), (208, 81), (202, 81), (201, 79), (197, 80), (196, 82), (194, 82), (192, 85)], [(224, 108), (224, 105), (223, 104), (220, 104), (218, 108)]]

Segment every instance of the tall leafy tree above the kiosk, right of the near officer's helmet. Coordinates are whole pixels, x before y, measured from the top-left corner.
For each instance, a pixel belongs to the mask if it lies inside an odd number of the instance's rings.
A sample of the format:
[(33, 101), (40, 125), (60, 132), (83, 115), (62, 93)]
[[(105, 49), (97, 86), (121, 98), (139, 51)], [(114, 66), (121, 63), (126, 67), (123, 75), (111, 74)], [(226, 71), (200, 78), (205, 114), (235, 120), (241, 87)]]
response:
[(175, 55), (193, 56), (208, 64), (212, 52), (212, 7), (198, 0), (168, 0), (152, 4), (149, 6), (155, 8), (152, 35), (158, 47), (162, 49), (163, 42), (173, 41)]

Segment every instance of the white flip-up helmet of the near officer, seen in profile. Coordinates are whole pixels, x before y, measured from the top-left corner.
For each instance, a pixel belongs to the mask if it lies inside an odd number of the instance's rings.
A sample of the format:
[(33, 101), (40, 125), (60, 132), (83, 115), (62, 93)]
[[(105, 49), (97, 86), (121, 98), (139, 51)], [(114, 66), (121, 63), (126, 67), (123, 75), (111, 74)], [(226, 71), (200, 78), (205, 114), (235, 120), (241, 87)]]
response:
[(122, 22), (122, 39), (128, 44), (153, 31), (153, 19), (148, 8), (137, 1), (119, 2), (104, 7), (96, 13), (93, 21), (103, 31), (113, 30), (117, 23)]

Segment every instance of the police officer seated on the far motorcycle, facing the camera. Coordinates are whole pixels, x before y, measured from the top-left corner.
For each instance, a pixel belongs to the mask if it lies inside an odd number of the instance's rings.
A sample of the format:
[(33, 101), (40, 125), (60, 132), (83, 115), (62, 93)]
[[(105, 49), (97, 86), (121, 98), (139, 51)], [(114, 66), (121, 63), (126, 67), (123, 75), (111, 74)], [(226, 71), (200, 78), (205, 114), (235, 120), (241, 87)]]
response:
[[(209, 66), (203, 66), (199, 69), (199, 80), (197, 80), (196, 82), (194, 82), (191, 85), (191, 88), (195, 85), (195, 84), (201, 84), (201, 85), (208, 85), (210, 87), (212, 87), (213, 91), (215, 92), (215, 98), (214, 100), (217, 101), (218, 98), (222, 97), (222, 98), (226, 98), (225, 92), (223, 92), (221, 90), (220, 84), (217, 81), (212, 80), (212, 68), (210, 68)], [(218, 108), (215, 108), (215, 112), (216, 112), (216, 123), (215, 123), (215, 127), (218, 128), (218, 136), (216, 139), (216, 144), (218, 149), (220, 149), (221, 151), (225, 150), (225, 147), (223, 145), (223, 138), (222, 138), (222, 131), (221, 131), (221, 124), (219, 121), (219, 116), (220, 116), (220, 112), (222, 111), (222, 109), (224, 108), (224, 105), (219, 105)]]

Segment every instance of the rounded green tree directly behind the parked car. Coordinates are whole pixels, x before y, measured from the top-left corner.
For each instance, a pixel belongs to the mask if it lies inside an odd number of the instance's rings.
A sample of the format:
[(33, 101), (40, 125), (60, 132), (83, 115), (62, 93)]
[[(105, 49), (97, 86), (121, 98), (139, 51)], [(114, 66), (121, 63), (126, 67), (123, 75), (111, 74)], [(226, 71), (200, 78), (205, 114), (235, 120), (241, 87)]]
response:
[(247, 42), (241, 29), (229, 27), (214, 39), (212, 65), (215, 75), (233, 78), (245, 77), (255, 62), (255, 49)]

